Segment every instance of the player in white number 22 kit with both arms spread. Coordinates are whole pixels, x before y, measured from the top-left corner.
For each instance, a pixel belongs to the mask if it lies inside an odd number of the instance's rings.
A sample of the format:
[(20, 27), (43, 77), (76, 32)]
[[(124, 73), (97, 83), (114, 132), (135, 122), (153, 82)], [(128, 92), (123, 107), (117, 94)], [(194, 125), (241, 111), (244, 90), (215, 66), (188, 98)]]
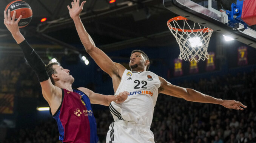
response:
[(236, 110), (246, 108), (238, 101), (216, 99), (193, 89), (172, 85), (162, 77), (148, 71), (150, 61), (143, 51), (134, 50), (131, 53), (131, 70), (113, 62), (102, 50), (95, 46), (93, 39), (83, 27), (79, 17), (82, 11), (79, 0), (74, 0), (72, 8), (80, 9), (71, 9), (68, 6), (69, 14), (74, 20), (77, 33), (85, 50), (97, 65), (113, 79), (115, 94), (124, 90), (130, 92), (130, 95), (122, 104), (111, 102), (109, 105), (114, 122), (109, 126), (106, 142), (154, 143), (154, 135), (150, 131), (150, 125), (159, 93), (183, 98), (187, 101), (220, 104), (226, 108)]

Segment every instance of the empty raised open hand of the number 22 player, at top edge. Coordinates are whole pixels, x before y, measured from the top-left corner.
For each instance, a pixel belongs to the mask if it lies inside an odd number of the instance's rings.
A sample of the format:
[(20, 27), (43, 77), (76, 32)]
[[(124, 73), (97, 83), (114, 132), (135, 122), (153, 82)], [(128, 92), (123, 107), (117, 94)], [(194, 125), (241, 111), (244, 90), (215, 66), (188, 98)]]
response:
[(80, 0), (74, 0), (74, 2), (71, 2), (72, 8), (68, 6), (69, 15), (72, 19), (75, 17), (79, 17), (80, 13), (83, 10), (83, 5), (86, 3), (86, 1), (83, 1), (81, 3), (81, 6), (79, 6)]

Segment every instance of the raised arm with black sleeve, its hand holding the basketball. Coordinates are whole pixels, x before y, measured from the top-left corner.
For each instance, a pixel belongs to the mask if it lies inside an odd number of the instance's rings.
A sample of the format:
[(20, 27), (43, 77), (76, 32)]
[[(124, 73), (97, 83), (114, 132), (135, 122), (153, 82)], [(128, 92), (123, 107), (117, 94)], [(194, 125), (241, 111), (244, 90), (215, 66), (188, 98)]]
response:
[(45, 64), (43, 63), (42, 59), (34, 51), (34, 49), (28, 44), (24, 36), (20, 33), (18, 23), (22, 18), (22, 16), (20, 16), (19, 19), (15, 21), (15, 15), (16, 15), (16, 11), (14, 11), (14, 14), (11, 19), (10, 10), (8, 11), (8, 15), (6, 14), (6, 11), (5, 11), (4, 24), (7, 27), (7, 29), (11, 32), (17, 44), (19, 44), (29, 65), (37, 74), (37, 77), (42, 87), (43, 97), (49, 103), (51, 108), (59, 107), (57, 104), (54, 104), (54, 102), (52, 101), (58, 101), (59, 98), (56, 98), (56, 96), (54, 95), (59, 95), (61, 97), (62, 91), (59, 87), (56, 87), (51, 83), (51, 80), (49, 78), (49, 75), (46, 72)]

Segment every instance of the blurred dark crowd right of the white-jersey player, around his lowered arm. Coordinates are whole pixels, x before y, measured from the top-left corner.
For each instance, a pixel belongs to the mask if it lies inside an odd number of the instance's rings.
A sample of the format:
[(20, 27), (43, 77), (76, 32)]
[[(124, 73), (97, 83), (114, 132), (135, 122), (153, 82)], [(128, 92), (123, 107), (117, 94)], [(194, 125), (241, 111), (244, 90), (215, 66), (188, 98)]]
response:
[(184, 82), (179, 86), (216, 98), (241, 101), (247, 108), (231, 110), (159, 95), (151, 125), (157, 143), (256, 142), (256, 71), (201, 79), (199, 83)]

